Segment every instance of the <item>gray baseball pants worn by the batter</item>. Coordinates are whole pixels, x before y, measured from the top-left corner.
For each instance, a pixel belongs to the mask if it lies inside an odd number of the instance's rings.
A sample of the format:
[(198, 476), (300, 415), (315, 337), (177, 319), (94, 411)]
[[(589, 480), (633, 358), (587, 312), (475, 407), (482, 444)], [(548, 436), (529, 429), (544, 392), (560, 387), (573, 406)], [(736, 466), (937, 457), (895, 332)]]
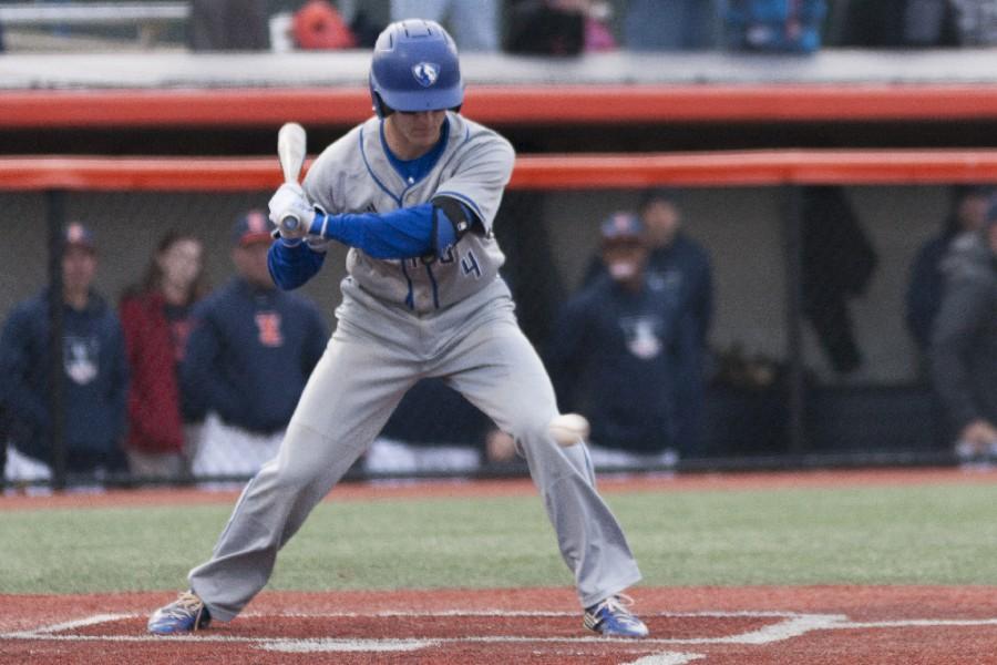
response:
[(423, 377), (450, 385), (511, 433), (574, 573), (583, 606), (640, 580), (619, 524), (595, 489), (583, 446), (547, 432), (557, 413), (546, 370), (501, 280), (444, 311), (415, 316), (348, 277), (339, 325), (312, 371), (277, 457), (246, 485), (191, 589), (229, 621), (266, 585), (278, 550), (363, 453)]

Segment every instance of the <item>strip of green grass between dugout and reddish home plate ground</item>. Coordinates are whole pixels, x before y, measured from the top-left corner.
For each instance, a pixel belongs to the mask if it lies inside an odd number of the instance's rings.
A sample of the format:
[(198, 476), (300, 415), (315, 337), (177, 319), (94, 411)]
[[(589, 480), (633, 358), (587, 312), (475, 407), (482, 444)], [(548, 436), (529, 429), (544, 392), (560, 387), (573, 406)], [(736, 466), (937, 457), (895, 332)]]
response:
[[(607, 500), (650, 585), (997, 584), (997, 485)], [(0, 511), (0, 593), (171, 590), (230, 505)], [(323, 503), (271, 589), (569, 585), (537, 497)]]

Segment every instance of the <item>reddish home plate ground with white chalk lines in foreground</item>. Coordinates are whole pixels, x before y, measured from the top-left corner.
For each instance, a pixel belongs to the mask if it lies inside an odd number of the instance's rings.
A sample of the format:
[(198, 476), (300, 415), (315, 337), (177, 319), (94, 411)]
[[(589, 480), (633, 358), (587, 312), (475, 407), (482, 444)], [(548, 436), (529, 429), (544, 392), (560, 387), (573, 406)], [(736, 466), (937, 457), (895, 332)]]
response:
[(171, 637), (145, 633), (145, 611), (81, 614), (72, 598), (95, 607), (100, 596), (60, 596), (62, 621), (0, 633), (0, 663), (997, 664), (993, 591), (640, 589), (635, 610), (651, 632), (641, 641), (588, 633), (559, 589), (493, 591), (492, 606), (487, 591), (269, 592), (229, 624)]

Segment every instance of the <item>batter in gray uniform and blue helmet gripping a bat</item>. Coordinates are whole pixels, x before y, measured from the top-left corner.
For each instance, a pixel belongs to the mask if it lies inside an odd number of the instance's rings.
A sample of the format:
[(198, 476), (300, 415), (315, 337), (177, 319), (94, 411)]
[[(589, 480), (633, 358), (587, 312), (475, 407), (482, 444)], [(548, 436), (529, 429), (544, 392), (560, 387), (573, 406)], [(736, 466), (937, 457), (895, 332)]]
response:
[(350, 247), (338, 325), (277, 457), (249, 481), (189, 591), (148, 621), (156, 634), (230, 621), (267, 583), (277, 551), (371, 443), (405, 391), (441, 377), (512, 433), (544, 499), (584, 624), (644, 637), (620, 593), (640, 579), (594, 487), (579, 441), (558, 446), (544, 367), (520, 330), (492, 222), (515, 154), (460, 114), (456, 48), (435, 22), (391, 23), (370, 70), (376, 116), (328, 146), (304, 188), (270, 200), (269, 266), (295, 288), (329, 243)]

